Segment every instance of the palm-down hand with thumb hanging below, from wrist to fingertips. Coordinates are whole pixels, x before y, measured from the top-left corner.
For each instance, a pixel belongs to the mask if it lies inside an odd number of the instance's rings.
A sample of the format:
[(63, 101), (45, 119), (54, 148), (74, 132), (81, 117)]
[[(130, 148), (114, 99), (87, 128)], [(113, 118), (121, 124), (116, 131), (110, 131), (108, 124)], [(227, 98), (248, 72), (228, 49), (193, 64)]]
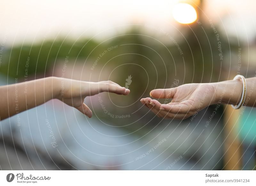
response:
[(59, 90), (57, 98), (67, 105), (73, 106), (89, 118), (92, 117), (92, 111), (84, 104), (86, 96), (93, 96), (100, 92), (112, 92), (120, 95), (130, 93), (129, 89), (125, 89), (112, 81), (88, 82), (58, 78), (57, 84)]

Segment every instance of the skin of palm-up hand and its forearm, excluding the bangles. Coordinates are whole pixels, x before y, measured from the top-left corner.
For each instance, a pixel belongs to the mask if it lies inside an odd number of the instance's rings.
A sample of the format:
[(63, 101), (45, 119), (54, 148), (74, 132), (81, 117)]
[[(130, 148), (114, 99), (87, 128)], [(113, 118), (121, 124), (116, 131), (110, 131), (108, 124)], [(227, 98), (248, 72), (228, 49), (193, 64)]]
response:
[[(256, 78), (246, 79), (246, 106), (255, 106)], [(158, 117), (183, 120), (213, 104), (237, 105), (241, 99), (243, 82), (241, 80), (216, 83), (191, 83), (171, 89), (155, 89), (150, 92), (154, 98), (164, 98), (168, 104), (161, 104), (150, 97), (140, 101)], [(245, 104), (244, 104), (245, 105)]]

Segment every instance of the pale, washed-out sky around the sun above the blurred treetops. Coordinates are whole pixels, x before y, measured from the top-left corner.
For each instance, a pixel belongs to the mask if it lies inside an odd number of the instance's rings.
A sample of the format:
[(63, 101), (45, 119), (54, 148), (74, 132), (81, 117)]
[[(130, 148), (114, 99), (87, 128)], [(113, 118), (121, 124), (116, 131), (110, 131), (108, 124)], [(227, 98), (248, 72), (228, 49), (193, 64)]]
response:
[[(58, 36), (107, 38), (145, 23), (175, 34), (172, 18), (178, 0), (2, 0), (0, 43), (40, 42)], [(205, 14), (228, 35), (252, 40), (256, 35), (254, 0), (205, 0)]]

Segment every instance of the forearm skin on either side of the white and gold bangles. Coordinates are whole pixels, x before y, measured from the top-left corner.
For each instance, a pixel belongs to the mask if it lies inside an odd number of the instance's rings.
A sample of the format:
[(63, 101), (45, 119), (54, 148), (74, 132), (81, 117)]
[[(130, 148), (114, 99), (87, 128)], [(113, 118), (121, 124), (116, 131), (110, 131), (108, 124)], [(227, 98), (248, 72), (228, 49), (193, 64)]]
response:
[[(230, 80), (212, 83), (215, 88), (214, 104), (237, 105), (242, 97), (243, 82), (241, 80)], [(256, 77), (246, 79), (245, 103), (247, 106), (256, 106)]]

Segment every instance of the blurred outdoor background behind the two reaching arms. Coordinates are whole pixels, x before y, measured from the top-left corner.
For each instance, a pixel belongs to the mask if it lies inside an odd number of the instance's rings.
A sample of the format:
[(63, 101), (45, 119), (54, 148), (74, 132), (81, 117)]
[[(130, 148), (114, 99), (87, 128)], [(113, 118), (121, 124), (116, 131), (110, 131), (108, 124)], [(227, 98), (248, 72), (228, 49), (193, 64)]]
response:
[[(253, 0), (2, 0), (0, 85), (58, 76), (111, 80), (93, 117), (52, 100), (0, 121), (2, 170), (253, 170), (254, 108), (211, 105), (163, 120), (156, 88), (255, 76)], [(159, 100), (164, 103), (164, 100)]]

